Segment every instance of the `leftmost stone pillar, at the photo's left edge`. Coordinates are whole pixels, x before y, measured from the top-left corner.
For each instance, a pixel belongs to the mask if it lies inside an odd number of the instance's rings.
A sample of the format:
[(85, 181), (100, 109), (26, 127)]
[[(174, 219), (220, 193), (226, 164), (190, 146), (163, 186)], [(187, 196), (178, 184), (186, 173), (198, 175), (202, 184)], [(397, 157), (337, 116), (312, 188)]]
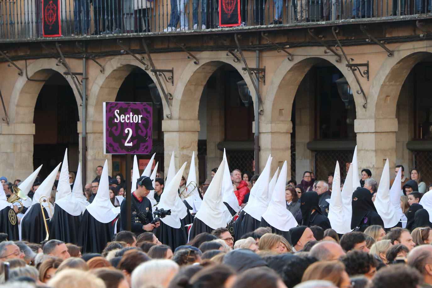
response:
[(33, 123), (0, 124), (0, 175), (24, 180), (33, 172)]

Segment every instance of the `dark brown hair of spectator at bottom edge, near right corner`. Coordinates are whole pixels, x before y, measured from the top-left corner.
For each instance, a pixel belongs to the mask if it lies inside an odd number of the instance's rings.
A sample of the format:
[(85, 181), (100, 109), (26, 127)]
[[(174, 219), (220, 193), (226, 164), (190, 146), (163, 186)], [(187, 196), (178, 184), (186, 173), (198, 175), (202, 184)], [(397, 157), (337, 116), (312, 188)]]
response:
[(423, 278), (416, 269), (404, 264), (390, 265), (380, 269), (372, 279), (371, 288), (417, 288)]

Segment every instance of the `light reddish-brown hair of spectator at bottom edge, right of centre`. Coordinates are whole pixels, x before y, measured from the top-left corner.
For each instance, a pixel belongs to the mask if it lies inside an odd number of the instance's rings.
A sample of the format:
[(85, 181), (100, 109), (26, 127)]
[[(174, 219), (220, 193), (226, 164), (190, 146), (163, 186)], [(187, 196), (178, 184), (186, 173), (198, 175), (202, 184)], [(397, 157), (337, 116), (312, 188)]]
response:
[(339, 261), (320, 261), (310, 265), (303, 274), (302, 282), (308, 280), (327, 280), (339, 288), (350, 287), (345, 265)]

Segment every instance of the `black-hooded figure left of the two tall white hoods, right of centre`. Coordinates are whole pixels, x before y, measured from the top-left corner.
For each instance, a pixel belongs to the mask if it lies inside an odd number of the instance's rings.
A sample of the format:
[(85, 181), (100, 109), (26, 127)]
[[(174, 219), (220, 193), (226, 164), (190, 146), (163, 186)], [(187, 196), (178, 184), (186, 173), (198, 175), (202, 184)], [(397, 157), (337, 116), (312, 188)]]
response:
[(331, 228), (330, 221), (326, 216), (323, 215), (323, 213), (321, 212), (321, 208), (318, 204), (318, 193), (314, 191), (302, 193), (300, 203), (300, 210), (302, 211), (303, 217), (302, 225), (308, 227), (317, 225), (323, 228), (323, 230)]

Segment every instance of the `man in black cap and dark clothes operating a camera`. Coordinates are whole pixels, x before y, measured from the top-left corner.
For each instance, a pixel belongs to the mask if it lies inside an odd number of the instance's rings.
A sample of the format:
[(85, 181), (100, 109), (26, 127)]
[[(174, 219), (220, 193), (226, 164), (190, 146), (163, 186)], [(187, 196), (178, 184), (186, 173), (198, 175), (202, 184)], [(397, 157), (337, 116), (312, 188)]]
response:
[[(153, 228), (157, 228), (160, 222), (152, 224), (152, 204), (147, 199), (147, 195), (150, 190), (154, 190), (152, 180), (147, 176), (141, 176), (137, 179), (137, 189), (133, 191), (131, 197), (131, 232), (142, 233), (145, 231), (152, 231)], [(123, 201), (120, 206), (120, 219), (121, 228), (126, 230), (127, 228), (127, 204)], [(144, 222), (144, 223), (143, 223)]]

